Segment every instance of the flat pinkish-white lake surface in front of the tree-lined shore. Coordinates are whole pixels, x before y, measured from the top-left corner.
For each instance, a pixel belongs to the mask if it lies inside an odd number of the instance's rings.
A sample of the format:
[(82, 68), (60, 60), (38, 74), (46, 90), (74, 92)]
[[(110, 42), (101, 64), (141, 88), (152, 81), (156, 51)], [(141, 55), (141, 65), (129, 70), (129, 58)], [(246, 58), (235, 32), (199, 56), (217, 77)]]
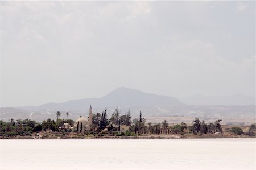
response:
[(256, 169), (255, 139), (8, 139), (0, 169)]

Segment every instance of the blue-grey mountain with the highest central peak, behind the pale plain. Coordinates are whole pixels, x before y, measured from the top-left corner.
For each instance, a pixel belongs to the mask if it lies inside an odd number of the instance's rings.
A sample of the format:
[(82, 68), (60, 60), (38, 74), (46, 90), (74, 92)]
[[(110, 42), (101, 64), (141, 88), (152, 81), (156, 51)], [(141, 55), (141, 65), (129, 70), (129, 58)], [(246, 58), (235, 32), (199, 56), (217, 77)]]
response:
[(18, 107), (18, 109), (35, 110), (82, 110), (92, 105), (93, 107), (145, 107), (145, 106), (168, 106), (168, 105), (184, 105), (179, 100), (162, 95), (144, 93), (139, 90), (129, 88), (117, 88), (101, 98), (85, 98), (79, 100), (67, 101), (64, 103), (46, 103), (36, 107)]

